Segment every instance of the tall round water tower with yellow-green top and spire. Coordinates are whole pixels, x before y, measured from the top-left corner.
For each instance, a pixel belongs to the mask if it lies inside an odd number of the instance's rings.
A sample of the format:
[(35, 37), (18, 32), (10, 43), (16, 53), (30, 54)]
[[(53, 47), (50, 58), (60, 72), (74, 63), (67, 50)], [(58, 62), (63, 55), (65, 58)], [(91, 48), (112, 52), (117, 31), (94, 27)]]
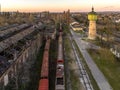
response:
[(97, 13), (94, 12), (94, 8), (92, 7), (92, 11), (88, 13), (89, 20), (89, 33), (88, 38), (94, 40), (96, 38), (96, 20)]

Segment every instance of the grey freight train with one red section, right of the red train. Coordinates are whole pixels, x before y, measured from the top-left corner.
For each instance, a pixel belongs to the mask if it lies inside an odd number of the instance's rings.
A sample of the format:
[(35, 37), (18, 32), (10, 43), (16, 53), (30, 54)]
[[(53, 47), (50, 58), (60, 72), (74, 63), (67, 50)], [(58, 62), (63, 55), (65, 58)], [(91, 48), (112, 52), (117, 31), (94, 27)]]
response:
[(55, 90), (65, 90), (62, 31), (60, 31), (58, 38), (58, 57), (56, 66)]

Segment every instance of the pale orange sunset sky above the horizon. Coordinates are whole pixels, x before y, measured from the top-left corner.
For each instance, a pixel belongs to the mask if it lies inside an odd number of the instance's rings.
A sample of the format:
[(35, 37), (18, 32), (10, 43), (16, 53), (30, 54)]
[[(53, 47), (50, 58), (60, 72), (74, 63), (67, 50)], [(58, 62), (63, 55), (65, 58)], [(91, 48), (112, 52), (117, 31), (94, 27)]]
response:
[(0, 0), (0, 4), (1, 11), (88, 12), (92, 6), (95, 11), (120, 11), (120, 0)]

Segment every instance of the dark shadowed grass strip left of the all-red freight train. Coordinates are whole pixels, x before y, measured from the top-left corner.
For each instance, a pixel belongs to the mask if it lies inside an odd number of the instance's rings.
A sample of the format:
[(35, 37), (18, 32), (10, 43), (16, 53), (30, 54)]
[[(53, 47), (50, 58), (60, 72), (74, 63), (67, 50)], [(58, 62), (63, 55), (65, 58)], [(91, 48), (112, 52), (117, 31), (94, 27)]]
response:
[(30, 82), (26, 90), (37, 90), (40, 80), (40, 70), (42, 66), (42, 58), (43, 58), (43, 51), (44, 51), (44, 44), (39, 50), (39, 53), (37, 54), (37, 58), (35, 60), (35, 63), (30, 68)]

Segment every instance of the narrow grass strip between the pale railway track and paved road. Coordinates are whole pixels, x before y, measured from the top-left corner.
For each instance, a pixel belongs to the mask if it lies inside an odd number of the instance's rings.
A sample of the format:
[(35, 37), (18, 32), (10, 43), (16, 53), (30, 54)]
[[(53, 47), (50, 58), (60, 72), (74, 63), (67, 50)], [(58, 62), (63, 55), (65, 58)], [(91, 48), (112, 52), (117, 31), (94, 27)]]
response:
[(74, 45), (75, 45), (75, 48), (76, 48), (77, 52), (79, 53), (79, 55), (81, 57), (82, 63), (84, 64), (85, 69), (86, 69), (86, 71), (87, 71), (87, 73), (89, 75), (89, 78), (90, 78), (90, 81), (91, 81), (91, 83), (93, 85), (94, 90), (100, 90), (97, 83), (96, 83), (96, 81), (94, 80), (94, 78), (93, 78), (93, 76), (92, 76), (92, 74), (90, 72), (90, 69), (89, 69), (88, 65), (86, 64), (86, 62), (85, 62), (85, 60), (83, 58), (83, 55), (81, 54), (77, 44), (75, 43), (75, 41), (73, 41), (73, 42), (74, 42)]

